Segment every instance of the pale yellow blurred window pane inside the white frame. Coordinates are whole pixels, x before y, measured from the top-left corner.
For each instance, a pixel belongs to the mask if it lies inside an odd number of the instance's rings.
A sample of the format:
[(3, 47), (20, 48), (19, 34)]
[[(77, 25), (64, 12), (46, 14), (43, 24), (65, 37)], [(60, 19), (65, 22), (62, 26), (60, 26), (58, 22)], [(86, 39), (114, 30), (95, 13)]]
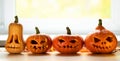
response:
[(110, 18), (110, 0), (16, 0), (21, 18)]

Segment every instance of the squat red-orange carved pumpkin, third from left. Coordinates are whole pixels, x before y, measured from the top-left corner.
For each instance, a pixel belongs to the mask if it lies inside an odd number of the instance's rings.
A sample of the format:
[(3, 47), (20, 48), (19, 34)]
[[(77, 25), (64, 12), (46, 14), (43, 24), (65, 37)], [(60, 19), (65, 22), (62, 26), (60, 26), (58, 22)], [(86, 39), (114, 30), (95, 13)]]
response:
[(83, 47), (83, 38), (79, 35), (71, 35), (69, 27), (66, 29), (67, 35), (59, 35), (53, 39), (53, 47), (60, 53), (77, 53)]

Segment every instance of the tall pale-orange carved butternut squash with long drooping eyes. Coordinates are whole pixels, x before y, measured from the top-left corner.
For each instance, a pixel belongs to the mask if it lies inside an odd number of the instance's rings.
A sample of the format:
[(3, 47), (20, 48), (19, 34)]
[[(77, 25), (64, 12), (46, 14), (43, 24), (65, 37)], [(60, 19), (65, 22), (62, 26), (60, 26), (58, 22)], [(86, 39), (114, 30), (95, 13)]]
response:
[(24, 48), (23, 27), (18, 23), (18, 17), (15, 16), (14, 23), (9, 25), (9, 36), (5, 44), (5, 48), (9, 53), (21, 53)]

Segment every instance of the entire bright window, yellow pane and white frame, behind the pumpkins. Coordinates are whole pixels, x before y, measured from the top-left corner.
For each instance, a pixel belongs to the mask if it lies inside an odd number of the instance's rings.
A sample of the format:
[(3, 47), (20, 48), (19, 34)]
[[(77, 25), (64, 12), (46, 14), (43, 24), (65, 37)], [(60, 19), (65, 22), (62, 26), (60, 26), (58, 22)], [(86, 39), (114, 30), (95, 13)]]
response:
[(120, 34), (119, 0), (2, 1), (5, 10), (3, 10), (5, 20), (3, 33), (7, 33), (8, 24), (14, 21), (15, 15), (18, 15), (25, 34), (34, 33), (35, 26), (38, 26), (41, 32), (49, 34), (66, 33), (66, 26), (69, 26), (73, 33), (87, 34), (94, 30), (99, 18), (103, 19), (107, 29)]

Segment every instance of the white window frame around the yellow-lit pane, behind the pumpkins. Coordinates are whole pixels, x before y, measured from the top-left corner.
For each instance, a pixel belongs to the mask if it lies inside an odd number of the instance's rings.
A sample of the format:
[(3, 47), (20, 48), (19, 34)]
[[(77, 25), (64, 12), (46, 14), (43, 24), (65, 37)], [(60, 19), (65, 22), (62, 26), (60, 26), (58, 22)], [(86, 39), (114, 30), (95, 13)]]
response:
[[(0, 32), (1, 34), (7, 34), (8, 32), (8, 25), (9, 23), (14, 21), (14, 16), (16, 16), (15, 11), (15, 0), (1, 0), (3, 2), (3, 12), (0, 14), (2, 17), (1, 20), (3, 20), (3, 27), (0, 28), (0, 30), (3, 30)], [(120, 34), (120, 27), (119, 20), (120, 20), (120, 7), (119, 7), (119, 0), (111, 0), (111, 18), (110, 19), (103, 19), (103, 25), (113, 31), (115, 34)], [(9, 11), (8, 11), (9, 10)], [(73, 33), (77, 34), (88, 34), (89, 32), (93, 31), (94, 28), (97, 26), (99, 18), (95, 19), (41, 19), (41, 21), (38, 23), (37, 19), (26, 19), (24, 21), (23, 18), (20, 18), (19, 20), (21, 24), (24, 26), (24, 34), (33, 34), (34, 33), (34, 26), (38, 26), (41, 29), (41, 32), (48, 33), (48, 34), (62, 34), (66, 33), (65, 27), (70, 26)], [(51, 21), (52, 20), (52, 21)], [(56, 21), (60, 20), (60, 21)], [(67, 21), (66, 21), (67, 20)], [(69, 22), (68, 22), (69, 20)], [(78, 22), (79, 20), (80, 23)], [(109, 21), (110, 20), (110, 21)], [(34, 24), (31, 24), (33, 22)], [(47, 22), (45, 22), (47, 21)], [(31, 22), (31, 23), (30, 23)], [(68, 22), (68, 23), (67, 23)], [(43, 23), (46, 23), (44, 25)], [(53, 23), (53, 24), (52, 24)], [(26, 25), (30, 24), (30, 25)], [(41, 25), (42, 24), (42, 25)], [(61, 25), (59, 25), (61, 24)], [(56, 25), (59, 25), (56, 27)], [(58, 29), (56, 29), (58, 28)]]

